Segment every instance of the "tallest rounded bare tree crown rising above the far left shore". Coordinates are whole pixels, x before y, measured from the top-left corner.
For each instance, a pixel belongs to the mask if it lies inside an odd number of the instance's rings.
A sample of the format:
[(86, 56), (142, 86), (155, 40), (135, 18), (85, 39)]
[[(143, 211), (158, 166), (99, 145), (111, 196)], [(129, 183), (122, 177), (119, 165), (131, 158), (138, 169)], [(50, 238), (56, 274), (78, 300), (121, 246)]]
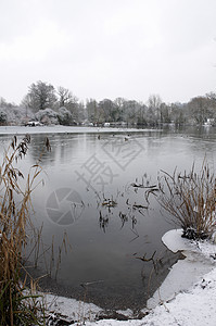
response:
[(41, 80), (33, 83), (24, 101), (34, 112), (53, 108), (56, 102), (55, 89), (51, 84)]

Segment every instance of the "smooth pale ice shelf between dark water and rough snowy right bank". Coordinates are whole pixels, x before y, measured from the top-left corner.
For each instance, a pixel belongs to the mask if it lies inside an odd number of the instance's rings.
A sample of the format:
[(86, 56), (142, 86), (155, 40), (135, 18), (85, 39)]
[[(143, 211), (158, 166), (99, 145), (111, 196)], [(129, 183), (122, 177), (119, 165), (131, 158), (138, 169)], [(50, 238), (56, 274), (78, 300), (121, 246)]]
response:
[(208, 241), (195, 242), (181, 237), (182, 230), (166, 233), (162, 241), (174, 253), (181, 251), (186, 256), (179, 260), (171, 268), (162, 286), (148, 301), (148, 308), (152, 309), (162, 302), (175, 298), (180, 291), (188, 290), (194, 283), (214, 268), (216, 246)]

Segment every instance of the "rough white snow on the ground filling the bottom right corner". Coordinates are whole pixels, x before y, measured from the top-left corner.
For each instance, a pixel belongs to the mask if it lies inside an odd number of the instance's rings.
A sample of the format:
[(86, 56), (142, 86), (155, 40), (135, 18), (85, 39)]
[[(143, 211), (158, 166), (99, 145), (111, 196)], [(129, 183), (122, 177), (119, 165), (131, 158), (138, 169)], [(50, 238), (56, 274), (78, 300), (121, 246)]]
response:
[(187, 292), (170, 302), (156, 306), (140, 321), (118, 322), (103, 319), (88, 322), (86, 326), (215, 326), (216, 325), (216, 268), (205, 275)]

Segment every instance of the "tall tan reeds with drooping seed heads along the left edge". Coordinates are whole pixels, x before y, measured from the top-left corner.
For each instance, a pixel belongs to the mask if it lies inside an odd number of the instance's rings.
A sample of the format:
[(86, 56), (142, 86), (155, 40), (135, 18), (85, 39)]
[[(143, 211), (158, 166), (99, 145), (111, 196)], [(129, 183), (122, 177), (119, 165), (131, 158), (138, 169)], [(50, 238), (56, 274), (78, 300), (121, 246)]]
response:
[(20, 142), (14, 137), (0, 166), (0, 325), (43, 325), (37, 321), (38, 296), (26, 291), (22, 254), (27, 241), (31, 201), (39, 162), (31, 166), (26, 179), (17, 163), (26, 155), (30, 136)]

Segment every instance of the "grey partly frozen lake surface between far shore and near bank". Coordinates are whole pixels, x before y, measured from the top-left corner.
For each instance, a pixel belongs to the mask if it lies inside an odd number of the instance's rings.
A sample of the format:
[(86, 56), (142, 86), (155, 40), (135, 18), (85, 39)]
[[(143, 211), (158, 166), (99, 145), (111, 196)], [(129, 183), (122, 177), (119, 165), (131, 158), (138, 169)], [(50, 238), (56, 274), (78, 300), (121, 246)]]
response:
[[(174, 224), (161, 213), (155, 196), (148, 203), (145, 190), (131, 184), (153, 186), (161, 170), (189, 171), (193, 162), (199, 168), (204, 156), (214, 166), (215, 131), (0, 127), (1, 152), (13, 135), (31, 134), (29, 153), (21, 162), (24, 172), (38, 160), (45, 136), (50, 139), (52, 151), (41, 162), (45, 185), (33, 196), (33, 221), (42, 225), (43, 250), (54, 239), (55, 265), (48, 251), (39, 272), (51, 266), (54, 277), (65, 233), (71, 244), (67, 254), (62, 250), (52, 289), (106, 309), (143, 308), (177, 256), (161, 240)], [(139, 259), (153, 254), (154, 263)]]

